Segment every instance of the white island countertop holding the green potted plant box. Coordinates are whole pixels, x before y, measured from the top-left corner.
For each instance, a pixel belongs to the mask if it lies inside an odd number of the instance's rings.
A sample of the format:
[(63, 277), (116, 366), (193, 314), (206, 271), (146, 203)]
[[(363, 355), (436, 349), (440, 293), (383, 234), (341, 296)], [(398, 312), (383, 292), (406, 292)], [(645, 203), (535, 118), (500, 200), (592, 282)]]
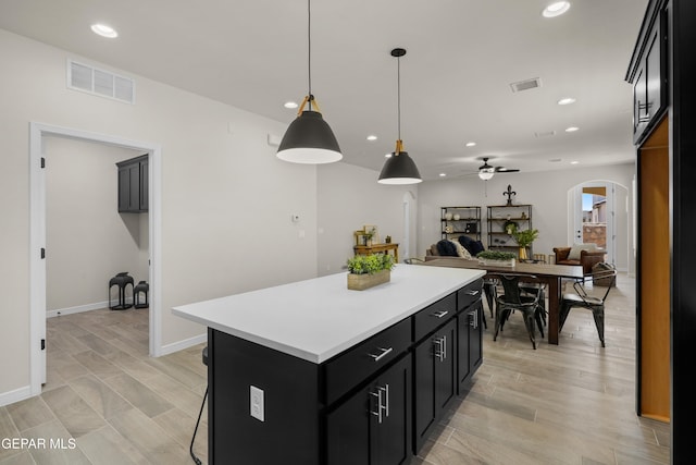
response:
[(174, 307), (172, 313), (321, 364), (483, 277), (483, 270), (397, 265), (391, 281), (347, 289), (347, 272)]

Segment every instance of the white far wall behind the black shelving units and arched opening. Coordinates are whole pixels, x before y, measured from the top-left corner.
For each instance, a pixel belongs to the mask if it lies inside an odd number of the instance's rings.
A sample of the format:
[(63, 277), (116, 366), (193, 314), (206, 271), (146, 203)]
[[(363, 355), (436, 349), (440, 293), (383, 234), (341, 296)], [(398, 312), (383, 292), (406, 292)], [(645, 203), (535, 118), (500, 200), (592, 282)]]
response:
[[(476, 176), (456, 180), (424, 182), (419, 185), (419, 240), (418, 256), (425, 255), (431, 244), (440, 240), (440, 207), (481, 206), (483, 242), (486, 243), (486, 206), (506, 205), (508, 184), (517, 192), (514, 204), (533, 205), (533, 227), (539, 230), (534, 242), (535, 254), (551, 254), (552, 248), (568, 243), (568, 191), (587, 181), (605, 180), (627, 188), (627, 205), (633, 205), (631, 182), (635, 173), (633, 163), (601, 167), (600, 169), (572, 167), (563, 171), (535, 173), (496, 174), (490, 181), (481, 181)], [(625, 201), (617, 199), (617, 231), (623, 231), (618, 237), (617, 266), (629, 272), (635, 271), (633, 256), (632, 215), (625, 212)], [(619, 257), (620, 255), (620, 257)]]

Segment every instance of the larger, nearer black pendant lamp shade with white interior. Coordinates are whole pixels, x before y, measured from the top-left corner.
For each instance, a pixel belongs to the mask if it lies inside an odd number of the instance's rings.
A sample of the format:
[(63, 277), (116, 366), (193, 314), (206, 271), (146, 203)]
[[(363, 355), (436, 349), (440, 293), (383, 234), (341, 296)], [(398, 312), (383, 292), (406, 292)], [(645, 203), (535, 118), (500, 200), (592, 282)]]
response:
[(276, 156), (294, 163), (333, 163), (343, 158), (328, 123), (318, 111), (306, 110), (288, 126)]

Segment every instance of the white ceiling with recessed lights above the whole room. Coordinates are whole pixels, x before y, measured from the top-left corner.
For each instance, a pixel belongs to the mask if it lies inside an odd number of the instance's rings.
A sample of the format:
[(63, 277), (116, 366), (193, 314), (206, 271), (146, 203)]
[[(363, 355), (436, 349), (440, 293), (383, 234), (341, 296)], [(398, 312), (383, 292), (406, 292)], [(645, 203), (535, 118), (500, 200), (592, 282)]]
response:
[[(545, 19), (550, 0), (314, 0), (312, 93), (344, 161), (380, 170), (394, 150), (395, 47), (401, 138), (425, 180), (482, 157), (523, 172), (632, 161), (624, 75), (647, 0), (571, 2)], [(288, 124), (283, 103), (307, 94), (306, 0), (1, 0), (0, 28)], [(529, 78), (540, 87), (512, 91)]]

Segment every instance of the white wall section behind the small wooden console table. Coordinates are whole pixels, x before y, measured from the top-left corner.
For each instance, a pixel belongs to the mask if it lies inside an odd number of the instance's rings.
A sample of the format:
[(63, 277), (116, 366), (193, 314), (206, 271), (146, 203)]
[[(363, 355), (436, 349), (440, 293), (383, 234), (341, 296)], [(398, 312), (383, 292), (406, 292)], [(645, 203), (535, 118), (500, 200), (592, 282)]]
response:
[[(399, 260), (403, 260), (403, 198), (413, 197), (417, 186), (383, 185), (377, 183), (380, 173), (346, 163), (320, 166), (318, 169), (318, 212), (320, 274), (338, 272), (353, 255), (353, 231), (365, 224), (376, 225), (382, 242), (387, 235), (399, 244)], [(414, 203), (415, 204), (415, 203)], [(415, 211), (411, 222), (415, 224)], [(413, 228), (413, 232), (415, 228)], [(411, 238), (410, 256), (417, 253), (417, 242)]]

